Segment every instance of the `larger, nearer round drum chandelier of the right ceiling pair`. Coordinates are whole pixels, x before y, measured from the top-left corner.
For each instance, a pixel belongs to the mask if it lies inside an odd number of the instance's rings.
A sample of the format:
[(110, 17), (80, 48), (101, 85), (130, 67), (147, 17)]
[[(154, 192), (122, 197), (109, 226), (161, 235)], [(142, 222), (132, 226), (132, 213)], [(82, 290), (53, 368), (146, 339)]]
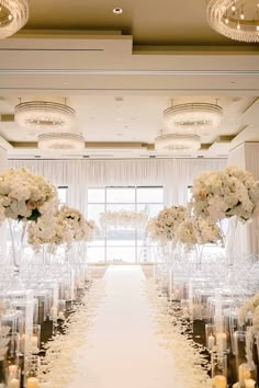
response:
[(223, 109), (216, 104), (188, 103), (164, 111), (165, 125), (170, 129), (212, 129), (219, 125)]

